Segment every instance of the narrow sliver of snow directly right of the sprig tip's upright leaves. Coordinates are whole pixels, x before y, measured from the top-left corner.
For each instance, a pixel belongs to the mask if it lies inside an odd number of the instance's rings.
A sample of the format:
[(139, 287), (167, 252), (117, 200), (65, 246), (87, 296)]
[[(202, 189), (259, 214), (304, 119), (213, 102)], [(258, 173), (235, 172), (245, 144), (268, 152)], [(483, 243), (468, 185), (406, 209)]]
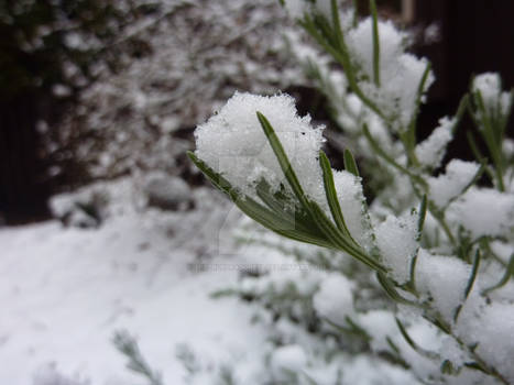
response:
[(340, 170), (333, 173), (333, 184), (350, 234), (359, 244), (369, 246), (371, 244), (371, 226), (365, 212), (362, 179), (349, 172)]

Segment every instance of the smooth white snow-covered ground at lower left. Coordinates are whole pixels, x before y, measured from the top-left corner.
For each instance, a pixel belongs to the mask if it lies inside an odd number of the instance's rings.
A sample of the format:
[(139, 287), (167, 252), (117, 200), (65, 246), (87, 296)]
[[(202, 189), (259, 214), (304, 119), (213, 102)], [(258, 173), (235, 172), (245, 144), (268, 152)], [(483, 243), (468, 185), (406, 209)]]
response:
[(250, 309), (209, 298), (238, 272), (190, 265), (233, 262), (219, 237), (232, 207), (210, 189), (195, 195), (193, 211), (125, 205), (98, 229), (0, 229), (0, 384), (143, 384), (111, 342), (123, 329), (165, 384), (184, 383), (177, 344), (216, 359), (254, 350), (264, 331)]

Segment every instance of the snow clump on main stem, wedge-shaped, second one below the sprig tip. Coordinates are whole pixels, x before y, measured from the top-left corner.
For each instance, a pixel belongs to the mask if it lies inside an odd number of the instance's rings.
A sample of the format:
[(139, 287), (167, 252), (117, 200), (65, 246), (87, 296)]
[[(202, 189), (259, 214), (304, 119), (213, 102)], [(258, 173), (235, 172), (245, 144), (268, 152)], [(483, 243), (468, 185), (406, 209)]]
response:
[(418, 249), (417, 217), (387, 216), (375, 227), (376, 245), (391, 277), (398, 284), (411, 278), (411, 263)]

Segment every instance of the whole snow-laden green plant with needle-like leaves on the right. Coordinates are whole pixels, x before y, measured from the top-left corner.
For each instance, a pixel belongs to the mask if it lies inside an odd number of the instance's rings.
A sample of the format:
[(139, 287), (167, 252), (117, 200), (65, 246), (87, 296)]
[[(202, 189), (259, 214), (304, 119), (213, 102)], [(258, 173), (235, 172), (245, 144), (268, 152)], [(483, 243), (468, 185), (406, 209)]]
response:
[[(236, 92), (196, 129), (190, 158), (242, 212), (330, 251), (293, 253), (322, 272), (258, 274), (234, 289), (271, 309), (264, 322), (282, 330), (263, 361), (275, 377), (260, 382), (513, 384), (514, 165), (505, 139), (513, 92), (496, 74), (477, 76), (456, 116), (418, 142), (434, 75), (425, 58), (406, 53), (408, 36), (378, 19), (375, 2), (364, 20), (335, 0), (283, 3), (325, 51), (304, 58), (349, 143), (373, 167), (360, 177), (347, 148), (345, 169), (333, 170), (322, 128), (284, 94)], [(467, 111), (488, 153), (470, 131), (477, 162), (446, 161)], [(384, 175), (387, 184), (375, 184), (368, 202), (363, 184)], [(341, 262), (348, 258), (357, 267)], [(307, 289), (298, 290), (300, 282)], [(389, 365), (413, 377), (359, 377), (337, 352), (362, 356), (359, 367)]]

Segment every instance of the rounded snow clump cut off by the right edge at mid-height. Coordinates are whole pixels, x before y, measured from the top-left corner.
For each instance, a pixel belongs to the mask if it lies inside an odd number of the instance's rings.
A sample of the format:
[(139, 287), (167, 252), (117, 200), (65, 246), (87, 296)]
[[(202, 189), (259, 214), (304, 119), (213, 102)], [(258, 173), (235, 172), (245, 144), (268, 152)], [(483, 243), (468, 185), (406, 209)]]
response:
[(514, 194), (492, 188), (470, 188), (451, 202), (447, 218), (468, 230), (473, 238), (502, 237), (514, 227)]

